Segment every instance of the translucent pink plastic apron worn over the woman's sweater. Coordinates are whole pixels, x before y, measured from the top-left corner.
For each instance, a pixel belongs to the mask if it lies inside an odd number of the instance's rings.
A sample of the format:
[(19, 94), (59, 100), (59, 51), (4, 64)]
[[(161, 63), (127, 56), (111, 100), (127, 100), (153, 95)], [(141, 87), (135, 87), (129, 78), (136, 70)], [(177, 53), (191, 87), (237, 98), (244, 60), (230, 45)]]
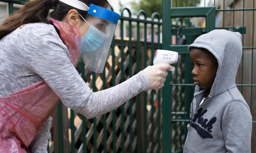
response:
[[(79, 29), (65, 22), (51, 21), (60, 30), (70, 61), (75, 64), (80, 53)], [(0, 153), (30, 152), (30, 143), (40, 133), (58, 102), (59, 97), (45, 81), (0, 98)]]

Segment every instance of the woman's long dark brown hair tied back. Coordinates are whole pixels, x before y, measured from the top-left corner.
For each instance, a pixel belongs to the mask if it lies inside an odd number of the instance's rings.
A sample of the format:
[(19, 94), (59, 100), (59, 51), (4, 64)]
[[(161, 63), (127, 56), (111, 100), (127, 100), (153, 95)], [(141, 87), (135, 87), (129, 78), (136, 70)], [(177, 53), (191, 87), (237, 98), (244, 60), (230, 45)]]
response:
[[(110, 7), (108, 0), (79, 0), (86, 4), (88, 7), (90, 4), (94, 4), (100, 7)], [(24, 4), (22, 8), (18, 10), (17, 13), (10, 15), (4, 22), (0, 25), (0, 39), (2, 39), (7, 34), (11, 33), (18, 27), (27, 23), (49, 23), (48, 12), (51, 7), (54, 6), (55, 10), (51, 12), (50, 17), (62, 21), (67, 15), (68, 11), (71, 9), (76, 9), (83, 18), (86, 18), (88, 11), (83, 11), (59, 0), (33, 0), (28, 1)]]

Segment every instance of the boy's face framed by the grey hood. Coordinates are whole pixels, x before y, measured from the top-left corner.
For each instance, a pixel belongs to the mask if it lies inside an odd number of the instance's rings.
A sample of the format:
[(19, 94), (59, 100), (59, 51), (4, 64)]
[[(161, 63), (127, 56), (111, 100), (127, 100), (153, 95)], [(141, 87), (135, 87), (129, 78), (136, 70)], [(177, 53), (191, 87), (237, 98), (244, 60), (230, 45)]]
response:
[(207, 56), (205, 51), (198, 48), (191, 49), (190, 58), (194, 65), (192, 70), (194, 85), (203, 89), (210, 89), (214, 83), (218, 65), (216, 66), (214, 59)]

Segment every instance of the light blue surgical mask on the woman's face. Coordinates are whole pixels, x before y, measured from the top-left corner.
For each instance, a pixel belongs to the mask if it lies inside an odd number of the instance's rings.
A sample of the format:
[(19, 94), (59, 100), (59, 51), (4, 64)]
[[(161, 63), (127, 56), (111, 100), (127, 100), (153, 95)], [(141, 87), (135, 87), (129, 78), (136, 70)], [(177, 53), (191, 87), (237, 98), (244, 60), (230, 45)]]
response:
[(104, 44), (106, 37), (105, 33), (91, 25), (86, 36), (81, 39), (81, 53), (95, 52)]

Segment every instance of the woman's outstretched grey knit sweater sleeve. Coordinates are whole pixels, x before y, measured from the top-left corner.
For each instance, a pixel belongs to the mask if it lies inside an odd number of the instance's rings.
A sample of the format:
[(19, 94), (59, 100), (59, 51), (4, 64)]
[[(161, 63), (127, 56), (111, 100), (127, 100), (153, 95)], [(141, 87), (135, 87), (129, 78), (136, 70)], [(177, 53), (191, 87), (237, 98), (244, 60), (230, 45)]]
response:
[(45, 80), (65, 106), (87, 118), (109, 112), (150, 88), (146, 73), (141, 71), (119, 85), (92, 92), (71, 64), (67, 47), (53, 27), (41, 26), (28, 37), (23, 51), (28, 67)]

